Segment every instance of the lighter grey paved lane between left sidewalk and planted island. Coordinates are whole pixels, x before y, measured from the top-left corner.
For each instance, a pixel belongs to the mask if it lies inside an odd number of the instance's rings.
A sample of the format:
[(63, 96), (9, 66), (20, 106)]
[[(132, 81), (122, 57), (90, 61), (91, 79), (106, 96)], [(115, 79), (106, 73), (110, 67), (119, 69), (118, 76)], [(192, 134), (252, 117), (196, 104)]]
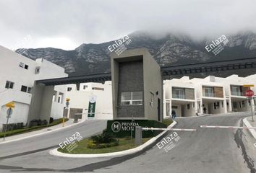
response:
[(75, 132), (79, 132), (84, 138), (92, 136), (95, 133), (101, 132), (106, 128), (106, 120), (87, 120), (84, 123), (80, 123), (63, 130), (56, 130), (52, 133), (46, 133), (33, 138), (27, 138), (22, 141), (14, 141), (11, 143), (0, 144), (0, 159), (7, 156), (33, 153), (46, 148), (52, 148), (59, 145), (59, 143), (65, 141), (65, 138), (69, 138)]

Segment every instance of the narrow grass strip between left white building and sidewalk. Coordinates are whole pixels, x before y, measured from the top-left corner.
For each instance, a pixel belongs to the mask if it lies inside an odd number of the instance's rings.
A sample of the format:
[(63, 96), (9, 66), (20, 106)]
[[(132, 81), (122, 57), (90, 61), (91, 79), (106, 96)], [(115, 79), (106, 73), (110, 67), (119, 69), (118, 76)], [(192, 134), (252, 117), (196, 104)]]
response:
[[(69, 119), (65, 119), (65, 122), (69, 120)], [(10, 130), (10, 131), (7, 131), (6, 132), (6, 137), (7, 136), (14, 136), (14, 135), (17, 135), (17, 134), (22, 134), (22, 133), (28, 133), (28, 132), (32, 132), (32, 131), (35, 131), (35, 130), (41, 130), (43, 128), (48, 128), (48, 127), (51, 127), (53, 125), (58, 125), (62, 123), (62, 118), (59, 118), (57, 120), (54, 120), (53, 123), (49, 124), (49, 125), (37, 125), (37, 126), (33, 126), (31, 128), (21, 128), (21, 129), (16, 129), (16, 130)], [(0, 138), (4, 138), (4, 133), (0, 133)]]

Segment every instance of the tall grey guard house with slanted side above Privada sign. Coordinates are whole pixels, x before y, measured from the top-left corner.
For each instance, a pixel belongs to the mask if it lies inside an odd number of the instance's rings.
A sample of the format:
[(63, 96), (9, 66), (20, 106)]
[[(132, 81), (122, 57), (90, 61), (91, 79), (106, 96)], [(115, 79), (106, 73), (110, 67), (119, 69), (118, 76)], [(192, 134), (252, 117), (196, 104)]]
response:
[(163, 120), (161, 68), (146, 48), (111, 53), (114, 120)]

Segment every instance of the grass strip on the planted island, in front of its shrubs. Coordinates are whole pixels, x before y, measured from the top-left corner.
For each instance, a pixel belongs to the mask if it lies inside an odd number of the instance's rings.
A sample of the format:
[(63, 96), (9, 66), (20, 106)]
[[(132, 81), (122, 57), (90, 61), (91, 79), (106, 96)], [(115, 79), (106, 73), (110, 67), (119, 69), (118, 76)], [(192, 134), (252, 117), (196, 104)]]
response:
[[(74, 148), (73, 151), (70, 153), (64, 148), (58, 148), (58, 151), (62, 153), (67, 153), (67, 154), (106, 154), (106, 153), (112, 153), (112, 152), (117, 152), (117, 151), (124, 151), (128, 150), (131, 148), (137, 147), (135, 145), (135, 139), (129, 139), (129, 138), (119, 138), (119, 145), (118, 146), (113, 146), (113, 147), (108, 147), (108, 148), (97, 148), (97, 149), (92, 149), (88, 148), (88, 142), (89, 138), (83, 139), (80, 142), (77, 143), (77, 148)], [(145, 143), (146, 141), (150, 140), (150, 138), (142, 138), (142, 142)], [(67, 147), (66, 147), (67, 148)]]

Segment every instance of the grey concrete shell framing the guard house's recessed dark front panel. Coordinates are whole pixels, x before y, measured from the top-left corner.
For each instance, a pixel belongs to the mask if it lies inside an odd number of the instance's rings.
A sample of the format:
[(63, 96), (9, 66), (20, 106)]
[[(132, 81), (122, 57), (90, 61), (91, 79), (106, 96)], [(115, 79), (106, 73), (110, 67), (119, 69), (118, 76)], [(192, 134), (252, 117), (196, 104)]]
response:
[[(142, 60), (143, 59), (143, 60)], [(150, 53), (148, 53), (148, 50), (145, 48), (142, 49), (135, 49), (135, 50), (127, 50), (124, 53), (121, 53), (121, 56), (117, 56), (116, 53), (111, 53), (111, 79), (112, 79), (112, 94), (113, 94), (113, 113), (114, 113), (114, 119), (131, 119), (131, 117), (127, 117), (125, 115), (124, 117), (120, 117), (119, 112), (117, 110), (122, 109), (119, 105), (119, 84), (121, 77), (119, 76), (120, 66), (119, 63), (124, 62), (134, 62), (134, 61), (143, 61), (143, 72), (140, 72), (143, 75), (143, 81), (144, 81), (144, 114), (142, 115), (136, 115), (137, 117), (134, 117), (135, 119), (142, 119), (142, 120), (158, 120), (158, 99), (160, 99), (160, 118), (162, 119), (163, 115), (163, 89), (162, 84), (163, 81), (161, 79), (161, 71), (158, 64), (155, 62), (152, 56), (150, 56)], [(152, 78), (152, 76), (155, 76)], [(131, 80), (135, 80), (136, 76), (130, 75)], [(136, 86), (136, 84), (134, 84)], [(132, 91), (132, 90), (130, 90)], [(137, 89), (135, 90), (137, 91)], [(152, 92), (154, 94), (153, 102), (154, 106), (150, 106), (150, 99)], [(155, 106), (156, 105), (156, 106)], [(134, 111), (134, 112), (132, 112)], [(140, 113), (140, 111), (136, 111), (136, 109), (131, 109), (129, 112), (132, 112), (132, 115), (134, 115), (136, 112)]]

